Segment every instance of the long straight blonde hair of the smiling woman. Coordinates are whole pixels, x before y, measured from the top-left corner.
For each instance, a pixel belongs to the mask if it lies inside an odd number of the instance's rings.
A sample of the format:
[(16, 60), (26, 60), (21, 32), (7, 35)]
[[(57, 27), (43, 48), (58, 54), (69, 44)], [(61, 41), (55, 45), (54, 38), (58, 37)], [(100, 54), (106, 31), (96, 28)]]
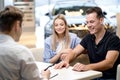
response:
[(64, 32), (65, 48), (69, 48), (70, 47), (70, 45), (69, 45), (70, 44), (70, 36), (69, 36), (68, 24), (67, 24), (67, 21), (66, 21), (64, 15), (58, 14), (53, 21), (52, 50), (56, 50), (57, 39), (58, 39), (58, 34), (55, 31), (55, 27), (54, 27), (56, 19), (61, 19), (65, 23), (65, 32)]

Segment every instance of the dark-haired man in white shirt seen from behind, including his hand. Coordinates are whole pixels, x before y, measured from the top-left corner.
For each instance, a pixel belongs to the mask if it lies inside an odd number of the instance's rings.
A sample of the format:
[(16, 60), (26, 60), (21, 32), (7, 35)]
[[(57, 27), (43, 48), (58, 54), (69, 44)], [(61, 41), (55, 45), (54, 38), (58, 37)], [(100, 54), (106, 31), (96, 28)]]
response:
[[(40, 80), (32, 52), (18, 44), (22, 33), (23, 12), (14, 6), (0, 11), (0, 80)], [(49, 80), (50, 71), (43, 71)]]

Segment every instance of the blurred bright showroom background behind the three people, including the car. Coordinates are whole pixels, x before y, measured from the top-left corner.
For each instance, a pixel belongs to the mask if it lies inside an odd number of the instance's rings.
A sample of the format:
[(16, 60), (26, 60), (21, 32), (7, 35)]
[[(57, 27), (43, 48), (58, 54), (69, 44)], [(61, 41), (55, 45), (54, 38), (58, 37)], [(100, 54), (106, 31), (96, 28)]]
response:
[[(44, 41), (52, 35), (53, 20), (58, 14), (65, 16), (69, 32), (77, 34), (82, 40), (89, 33), (85, 12), (98, 6), (104, 14), (105, 28), (120, 38), (120, 0), (0, 0), (0, 10), (7, 5), (23, 11), (22, 35), (18, 43), (28, 47), (36, 61), (43, 61)], [(71, 65), (76, 61), (88, 64), (88, 55), (78, 56)], [(117, 72), (117, 80), (120, 80), (118, 75), (120, 65)]]

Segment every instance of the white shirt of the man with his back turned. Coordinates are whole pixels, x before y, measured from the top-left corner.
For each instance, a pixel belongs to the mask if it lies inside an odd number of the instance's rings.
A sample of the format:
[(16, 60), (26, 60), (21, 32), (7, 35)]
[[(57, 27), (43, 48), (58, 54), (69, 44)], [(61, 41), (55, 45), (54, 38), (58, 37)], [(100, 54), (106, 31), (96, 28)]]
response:
[(40, 80), (32, 52), (0, 34), (0, 80)]

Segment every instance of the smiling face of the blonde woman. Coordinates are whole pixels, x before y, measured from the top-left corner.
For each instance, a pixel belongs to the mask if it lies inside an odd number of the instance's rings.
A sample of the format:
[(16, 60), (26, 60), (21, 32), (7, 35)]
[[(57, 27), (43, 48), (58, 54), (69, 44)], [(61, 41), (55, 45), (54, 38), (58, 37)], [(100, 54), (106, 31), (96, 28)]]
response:
[(65, 32), (65, 22), (62, 19), (56, 19), (54, 22), (54, 29), (55, 32), (58, 33), (58, 35), (63, 35)]

